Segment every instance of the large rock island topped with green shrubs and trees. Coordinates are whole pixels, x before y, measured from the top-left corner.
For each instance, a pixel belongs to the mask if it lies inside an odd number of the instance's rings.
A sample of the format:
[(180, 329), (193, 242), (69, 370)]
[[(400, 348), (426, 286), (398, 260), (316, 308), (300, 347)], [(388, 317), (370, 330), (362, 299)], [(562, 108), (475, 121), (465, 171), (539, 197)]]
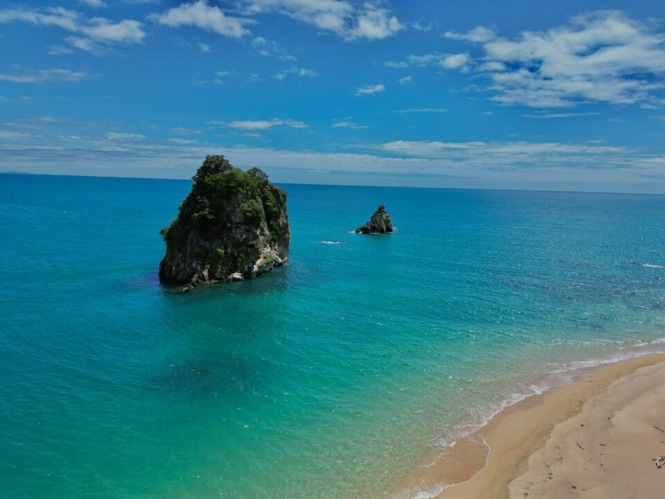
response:
[(161, 281), (187, 283), (184, 290), (191, 290), (256, 277), (287, 261), (286, 191), (263, 171), (242, 171), (224, 156), (208, 156), (192, 180), (178, 217), (161, 230)]

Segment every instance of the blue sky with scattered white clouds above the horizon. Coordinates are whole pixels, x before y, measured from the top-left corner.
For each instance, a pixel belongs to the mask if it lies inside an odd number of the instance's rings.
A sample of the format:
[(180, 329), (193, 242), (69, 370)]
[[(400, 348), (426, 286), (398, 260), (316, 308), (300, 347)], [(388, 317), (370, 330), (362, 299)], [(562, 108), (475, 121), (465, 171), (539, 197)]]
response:
[(665, 193), (664, 139), (662, 0), (0, 1), (0, 171)]

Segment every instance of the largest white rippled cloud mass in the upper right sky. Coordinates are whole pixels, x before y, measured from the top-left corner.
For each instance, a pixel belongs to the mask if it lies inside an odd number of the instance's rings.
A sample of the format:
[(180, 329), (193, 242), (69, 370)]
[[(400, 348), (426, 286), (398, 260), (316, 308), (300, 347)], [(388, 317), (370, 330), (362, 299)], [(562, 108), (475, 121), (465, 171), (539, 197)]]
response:
[(501, 103), (632, 104), (652, 100), (665, 88), (665, 33), (623, 12), (590, 12), (567, 26), (525, 31), (514, 40), (474, 31), (449, 37), (481, 44), (485, 63), (478, 69), (486, 71), (488, 89)]

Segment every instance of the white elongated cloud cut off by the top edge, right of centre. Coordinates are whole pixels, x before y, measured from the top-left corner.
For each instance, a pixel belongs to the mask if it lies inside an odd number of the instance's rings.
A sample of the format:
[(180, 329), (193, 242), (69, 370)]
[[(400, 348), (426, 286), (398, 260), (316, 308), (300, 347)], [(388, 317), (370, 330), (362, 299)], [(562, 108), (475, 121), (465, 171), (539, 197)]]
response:
[(372, 3), (343, 0), (249, 0), (243, 4), (247, 15), (277, 12), (330, 31), (345, 40), (380, 40), (404, 28), (397, 17)]

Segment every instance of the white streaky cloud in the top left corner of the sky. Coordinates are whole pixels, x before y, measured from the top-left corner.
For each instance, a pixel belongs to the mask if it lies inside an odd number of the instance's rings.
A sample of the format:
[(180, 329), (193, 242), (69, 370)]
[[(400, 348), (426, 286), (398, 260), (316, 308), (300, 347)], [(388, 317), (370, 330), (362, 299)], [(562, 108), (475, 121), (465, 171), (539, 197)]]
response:
[[(43, 9), (0, 10), (0, 24), (26, 22), (37, 26), (57, 26), (76, 33), (65, 40), (71, 46), (94, 53), (103, 53), (110, 44), (137, 44), (143, 41), (143, 24), (133, 19), (109, 21), (103, 17), (86, 19), (78, 12), (62, 7)], [(100, 45), (101, 44), (101, 45)], [(67, 47), (55, 46), (51, 53), (62, 55)]]

